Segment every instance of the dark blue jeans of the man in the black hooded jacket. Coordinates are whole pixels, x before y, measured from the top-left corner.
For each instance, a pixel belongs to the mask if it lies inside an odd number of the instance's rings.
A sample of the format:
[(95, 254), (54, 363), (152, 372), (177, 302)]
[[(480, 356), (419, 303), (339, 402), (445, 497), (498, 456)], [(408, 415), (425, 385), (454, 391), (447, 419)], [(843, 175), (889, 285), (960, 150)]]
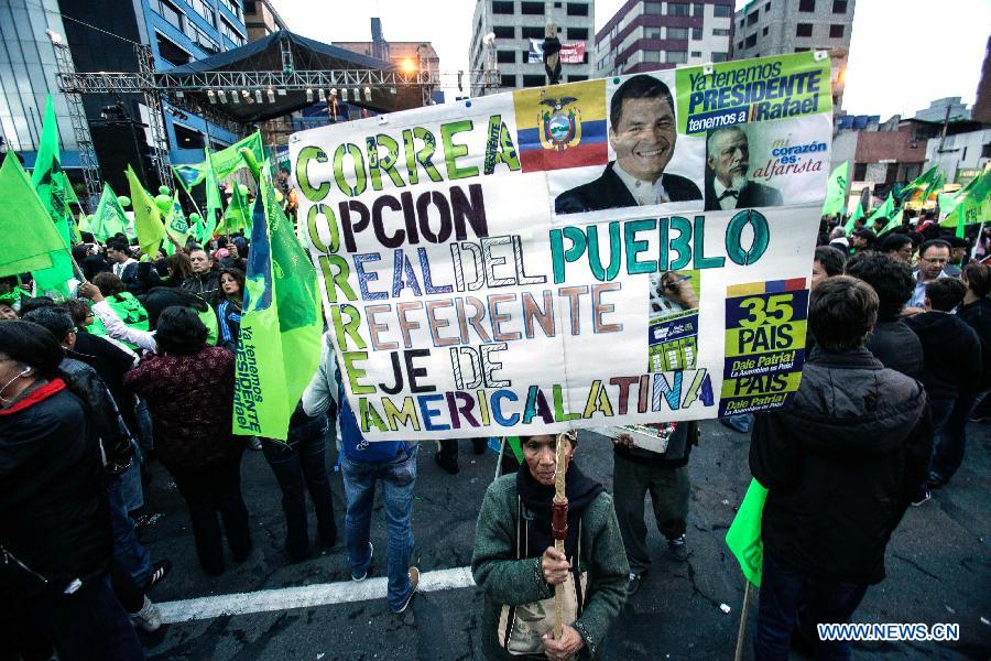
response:
[(816, 625), (849, 621), (867, 588), (796, 574), (775, 563), (765, 551), (754, 659), (787, 661), (792, 633), (797, 628), (815, 648), (817, 661), (846, 661), (850, 643), (820, 641)]

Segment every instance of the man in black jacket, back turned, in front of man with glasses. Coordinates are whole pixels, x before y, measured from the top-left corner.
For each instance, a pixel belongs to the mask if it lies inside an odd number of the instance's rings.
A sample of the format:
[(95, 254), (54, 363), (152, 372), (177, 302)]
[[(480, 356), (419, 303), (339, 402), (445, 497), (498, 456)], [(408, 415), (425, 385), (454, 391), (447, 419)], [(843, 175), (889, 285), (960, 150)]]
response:
[[(962, 448), (960, 434), (951, 434), (949, 420), (957, 400), (977, 392), (981, 381), (981, 340), (967, 323), (950, 314), (967, 294), (967, 285), (956, 278), (937, 278), (926, 284), (926, 311), (905, 319), (922, 342), (926, 369), (922, 382), (933, 408), (933, 459), (927, 485), (914, 505), (929, 499), (929, 489), (949, 479), (945, 462), (937, 457)], [(962, 452), (962, 449), (961, 449)], [(943, 464), (943, 466), (937, 466)]]

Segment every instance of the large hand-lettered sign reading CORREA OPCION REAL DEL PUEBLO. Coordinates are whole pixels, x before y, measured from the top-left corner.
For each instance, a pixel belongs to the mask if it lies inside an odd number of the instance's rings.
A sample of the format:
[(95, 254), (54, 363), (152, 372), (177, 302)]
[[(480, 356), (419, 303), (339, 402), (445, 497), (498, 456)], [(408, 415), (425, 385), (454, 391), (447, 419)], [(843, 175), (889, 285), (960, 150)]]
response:
[(829, 175), (825, 54), (296, 133), (301, 231), (370, 440), (785, 405)]

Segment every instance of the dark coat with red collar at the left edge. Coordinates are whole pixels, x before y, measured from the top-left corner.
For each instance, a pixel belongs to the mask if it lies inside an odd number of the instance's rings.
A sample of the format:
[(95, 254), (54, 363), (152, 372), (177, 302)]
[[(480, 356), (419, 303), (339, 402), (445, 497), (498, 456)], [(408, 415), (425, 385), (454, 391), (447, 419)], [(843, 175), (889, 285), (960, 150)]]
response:
[(0, 598), (55, 596), (106, 571), (106, 480), (92, 416), (61, 379), (0, 411)]

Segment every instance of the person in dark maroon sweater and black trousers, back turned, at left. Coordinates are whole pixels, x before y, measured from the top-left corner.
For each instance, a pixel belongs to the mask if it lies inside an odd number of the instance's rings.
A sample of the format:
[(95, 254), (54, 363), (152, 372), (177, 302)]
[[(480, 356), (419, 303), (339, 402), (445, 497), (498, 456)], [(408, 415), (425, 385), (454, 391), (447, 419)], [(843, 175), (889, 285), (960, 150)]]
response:
[(207, 328), (193, 310), (166, 307), (155, 326), (157, 354), (124, 376), (148, 401), (159, 460), (189, 508), (199, 563), (224, 571), (220, 523), (236, 562), (251, 552), (248, 510), (241, 497), (243, 444), (231, 433), (235, 357), (207, 346)]

